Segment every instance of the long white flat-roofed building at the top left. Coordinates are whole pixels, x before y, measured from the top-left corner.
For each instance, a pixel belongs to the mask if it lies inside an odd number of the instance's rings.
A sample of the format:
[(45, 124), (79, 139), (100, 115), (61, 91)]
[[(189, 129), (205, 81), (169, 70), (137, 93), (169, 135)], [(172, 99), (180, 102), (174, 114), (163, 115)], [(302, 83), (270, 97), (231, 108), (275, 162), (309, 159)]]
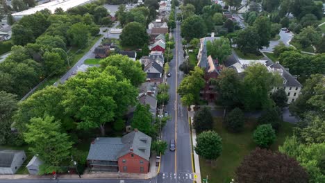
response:
[(21, 12), (15, 12), (12, 13), (12, 17), (14, 19), (22, 19), (25, 15), (31, 15), (35, 12), (38, 12), (40, 10), (49, 9), (52, 13), (56, 10), (56, 8), (62, 8), (64, 11), (66, 11), (69, 8), (74, 8), (76, 6), (83, 5), (85, 3), (90, 3), (92, 0), (56, 0), (51, 1), (49, 3), (43, 3), (41, 5), (35, 6), (34, 8), (30, 8), (28, 10), (24, 10)]

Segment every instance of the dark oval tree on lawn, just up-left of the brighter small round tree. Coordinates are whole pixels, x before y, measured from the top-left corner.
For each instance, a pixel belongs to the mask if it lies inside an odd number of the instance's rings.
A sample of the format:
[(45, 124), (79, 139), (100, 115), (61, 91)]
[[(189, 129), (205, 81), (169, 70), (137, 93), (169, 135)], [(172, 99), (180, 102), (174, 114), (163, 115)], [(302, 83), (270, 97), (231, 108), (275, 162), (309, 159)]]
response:
[(236, 107), (224, 119), (224, 125), (231, 132), (241, 132), (244, 128), (245, 116), (240, 108)]

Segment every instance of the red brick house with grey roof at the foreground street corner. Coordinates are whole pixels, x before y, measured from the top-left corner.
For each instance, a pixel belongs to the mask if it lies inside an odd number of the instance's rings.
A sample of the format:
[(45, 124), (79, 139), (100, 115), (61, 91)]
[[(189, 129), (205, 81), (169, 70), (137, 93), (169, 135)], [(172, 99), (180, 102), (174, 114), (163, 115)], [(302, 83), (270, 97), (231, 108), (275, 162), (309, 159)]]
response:
[(91, 171), (148, 173), (151, 137), (137, 129), (123, 137), (92, 141), (87, 157)]

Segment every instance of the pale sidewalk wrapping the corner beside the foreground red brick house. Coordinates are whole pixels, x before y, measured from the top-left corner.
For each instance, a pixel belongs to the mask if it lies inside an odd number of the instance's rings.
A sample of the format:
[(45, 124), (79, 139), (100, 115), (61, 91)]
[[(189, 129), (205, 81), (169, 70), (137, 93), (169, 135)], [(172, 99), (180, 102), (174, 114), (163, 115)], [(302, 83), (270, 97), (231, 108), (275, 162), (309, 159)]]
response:
[[(151, 179), (157, 176), (158, 166), (156, 166), (156, 154), (150, 157), (150, 171), (147, 174), (143, 173), (115, 173), (115, 172), (96, 172), (85, 173), (81, 175), (82, 179)], [(19, 179), (51, 179), (52, 175), (0, 175), (0, 180), (19, 180)], [(60, 179), (79, 179), (76, 174), (58, 175)]]

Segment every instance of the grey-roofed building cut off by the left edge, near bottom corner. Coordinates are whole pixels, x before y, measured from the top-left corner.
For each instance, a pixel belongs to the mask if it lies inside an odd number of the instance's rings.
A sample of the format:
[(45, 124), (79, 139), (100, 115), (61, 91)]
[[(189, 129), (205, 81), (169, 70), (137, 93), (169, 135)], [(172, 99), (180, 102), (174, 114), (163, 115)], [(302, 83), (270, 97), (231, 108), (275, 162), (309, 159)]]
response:
[(24, 150), (1, 150), (0, 174), (15, 174), (25, 160)]

